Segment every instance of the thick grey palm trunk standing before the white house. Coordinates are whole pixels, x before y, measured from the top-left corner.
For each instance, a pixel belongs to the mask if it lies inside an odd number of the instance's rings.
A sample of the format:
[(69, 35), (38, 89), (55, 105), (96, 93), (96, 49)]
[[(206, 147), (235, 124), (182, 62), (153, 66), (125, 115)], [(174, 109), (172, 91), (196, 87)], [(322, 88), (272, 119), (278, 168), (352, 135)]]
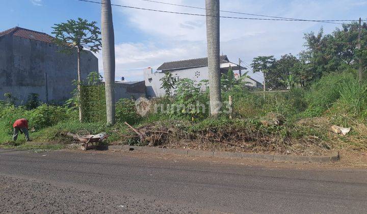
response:
[(220, 112), (220, 44), (219, 44), (219, 0), (205, 0), (206, 8), (206, 40), (209, 73), (209, 97), (211, 115)]

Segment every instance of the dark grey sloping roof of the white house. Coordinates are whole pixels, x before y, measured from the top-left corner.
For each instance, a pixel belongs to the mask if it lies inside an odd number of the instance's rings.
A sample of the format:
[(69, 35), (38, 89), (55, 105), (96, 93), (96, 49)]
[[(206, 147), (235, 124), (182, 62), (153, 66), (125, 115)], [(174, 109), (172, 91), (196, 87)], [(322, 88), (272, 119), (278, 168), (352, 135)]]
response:
[[(229, 62), (226, 55), (220, 56), (220, 63)], [(177, 70), (182, 68), (197, 68), (207, 66), (207, 57), (191, 59), (191, 60), (181, 60), (174, 62), (165, 62), (161, 65), (157, 70), (165, 71), (165, 70)]]

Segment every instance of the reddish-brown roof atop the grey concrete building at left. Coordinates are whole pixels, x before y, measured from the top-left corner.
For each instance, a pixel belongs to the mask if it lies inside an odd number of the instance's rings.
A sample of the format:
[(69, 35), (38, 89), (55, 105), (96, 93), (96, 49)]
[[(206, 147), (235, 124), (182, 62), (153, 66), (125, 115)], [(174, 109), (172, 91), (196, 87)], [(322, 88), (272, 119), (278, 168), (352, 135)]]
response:
[(24, 28), (19, 28), (19, 27), (15, 27), (15, 28), (0, 32), (0, 36), (4, 36), (8, 34), (12, 34), (13, 36), (22, 37), (25, 39), (33, 39), (33, 40), (37, 40), (41, 42), (54, 43), (53, 41), (54, 37), (48, 34), (37, 32), (37, 31), (32, 31), (32, 30), (28, 30)]

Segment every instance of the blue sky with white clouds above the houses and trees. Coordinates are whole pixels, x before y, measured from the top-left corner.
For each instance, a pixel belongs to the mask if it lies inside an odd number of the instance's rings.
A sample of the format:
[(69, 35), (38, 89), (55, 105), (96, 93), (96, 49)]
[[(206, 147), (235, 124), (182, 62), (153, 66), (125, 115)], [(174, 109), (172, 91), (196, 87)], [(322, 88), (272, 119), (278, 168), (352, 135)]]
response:
[[(99, 2), (99, 0), (94, 0)], [(111, 0), (112, 4), (205, 14), (205, 10), (146, 2)], [(161, 2), (205, 7), (204, 0), (158, 0)], [(100, 5), (77, 0), (0, 0), (0, 31), (14, 26), (51, 35), (51, 27), (78, 17), (100, 23)], [(221, 10), (298, 19), (367, 18), (367, 0), (222, 0)], [(256, 17), (221, 13), (222, 16)], [(261, 18), (261, 17), (259, 17)], [(143, 69), (154, 70), (164, 62), (206, 57), (205, 17), (159, 13), (113, 7), (115, 29), (116, 79), (143, 80)], [(340, 24), (264, 21), (221, 18), (220, 51), (231, 62), (241, 58), (245, 65), (257, 56), (280, 58), (286, 53), (297, 56), (303, 50), (305, 33), (321, 27), (331, 33)], [(102, 53), (96, 53), (103, 75)], [(261, 73), (249, 75), (262, 82)]]

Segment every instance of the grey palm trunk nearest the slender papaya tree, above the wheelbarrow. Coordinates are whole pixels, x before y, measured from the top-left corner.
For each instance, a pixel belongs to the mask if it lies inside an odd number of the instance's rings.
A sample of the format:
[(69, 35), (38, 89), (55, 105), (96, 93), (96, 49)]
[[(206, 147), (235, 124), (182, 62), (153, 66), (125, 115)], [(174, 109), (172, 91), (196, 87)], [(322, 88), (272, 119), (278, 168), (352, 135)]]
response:
[(101, 0), (101, 29), (104, 83), (106, 86), (107, 123), (115, 123), (115, 35), (111, 0)]

